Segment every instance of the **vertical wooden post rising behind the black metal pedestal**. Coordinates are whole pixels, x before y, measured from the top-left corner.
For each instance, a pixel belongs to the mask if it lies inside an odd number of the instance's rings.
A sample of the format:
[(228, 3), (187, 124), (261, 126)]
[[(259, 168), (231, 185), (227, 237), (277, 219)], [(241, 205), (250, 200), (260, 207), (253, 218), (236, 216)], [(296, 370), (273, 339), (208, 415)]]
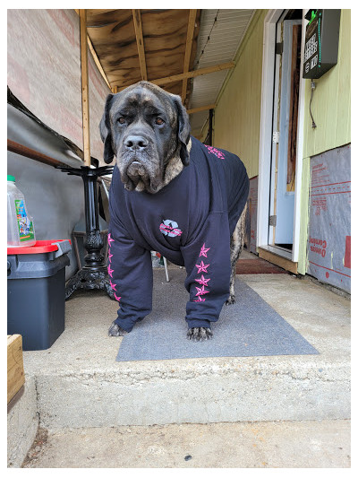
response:
[(86, 10), (80, 9), (83, 159), (84, 164), (90, 166), (90, 98), (86, 18)]

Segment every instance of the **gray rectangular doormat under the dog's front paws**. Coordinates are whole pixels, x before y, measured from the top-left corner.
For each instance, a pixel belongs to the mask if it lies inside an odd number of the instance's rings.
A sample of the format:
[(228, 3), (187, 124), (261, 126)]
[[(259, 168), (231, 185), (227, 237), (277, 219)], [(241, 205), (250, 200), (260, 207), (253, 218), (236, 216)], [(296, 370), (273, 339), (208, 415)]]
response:
[(224, 305), (212, 340), (186, 338), (185, 306), (189, 294), (185, 271), (154, 270), (153, 311), (124, 335), (116, 361), (163, 361), (200, 357), (305, 355), (319, 352), (279, 316), (260, 295), (236, 276), (236, 303)]

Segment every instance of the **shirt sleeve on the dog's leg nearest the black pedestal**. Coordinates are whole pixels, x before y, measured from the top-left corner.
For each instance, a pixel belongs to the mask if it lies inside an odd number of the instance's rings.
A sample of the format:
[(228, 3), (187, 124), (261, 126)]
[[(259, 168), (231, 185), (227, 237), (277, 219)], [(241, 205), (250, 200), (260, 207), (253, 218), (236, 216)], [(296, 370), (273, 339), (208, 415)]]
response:
[(135, 322), (152, 308), (153, 269), (150, 251), (141, 248), (125, 230), (110, 204), (108, 274), (119, 302), (115, 323), (131, 332)]

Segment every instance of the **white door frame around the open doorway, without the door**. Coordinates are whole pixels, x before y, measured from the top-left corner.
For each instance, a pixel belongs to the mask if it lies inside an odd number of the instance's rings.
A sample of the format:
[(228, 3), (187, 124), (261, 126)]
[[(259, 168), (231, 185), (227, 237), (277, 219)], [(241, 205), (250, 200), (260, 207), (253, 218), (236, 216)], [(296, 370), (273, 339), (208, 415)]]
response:
[[(298, 262), (300, 248), (300, 223), (301, 223), (301, 189), (303, 172), (303, 126), (304, 126), (304, 92), (305, 80), (303, 79), (303, 55), (301, 58), (300, 73), (300, 98), (297, 122), (297, 152), (294, 181), (294, 238), (292, 252), (281, 248), (268, 246), (268, 217), (269, 193), (271, 176), (271, 150), (272, 150), (272, 117), (274, 108), (274, 80), (275, 80), (275, 45), (276, 23), (284, 9), (269, 10), (264, 20), (263, 56), (262, 56), (262, 81), (261, 81), (261, 109), (260, 109), (260, 156), (259, 156), (259, 182), (258, 182), (258, 213), (257, 213), (257, 247), (266, 248), (277, 256), (283, 256), (293, 262)], [(307, 21), (303, 10), (303, 35), (301, 51), (304, 51), (304, 32)]]

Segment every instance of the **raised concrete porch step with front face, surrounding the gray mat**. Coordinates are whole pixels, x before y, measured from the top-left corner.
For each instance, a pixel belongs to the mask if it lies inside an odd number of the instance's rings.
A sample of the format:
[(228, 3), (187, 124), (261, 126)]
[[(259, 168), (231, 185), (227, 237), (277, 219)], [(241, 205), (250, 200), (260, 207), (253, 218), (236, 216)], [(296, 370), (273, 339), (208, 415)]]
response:
[(348, 419), (350, 301), (291, 275), (240, 279), (320, 355), (116, 362), (122, 339), (107, 336), (115, 301), (78, 292), (51, 349), (24, 353), (40, 427)]

